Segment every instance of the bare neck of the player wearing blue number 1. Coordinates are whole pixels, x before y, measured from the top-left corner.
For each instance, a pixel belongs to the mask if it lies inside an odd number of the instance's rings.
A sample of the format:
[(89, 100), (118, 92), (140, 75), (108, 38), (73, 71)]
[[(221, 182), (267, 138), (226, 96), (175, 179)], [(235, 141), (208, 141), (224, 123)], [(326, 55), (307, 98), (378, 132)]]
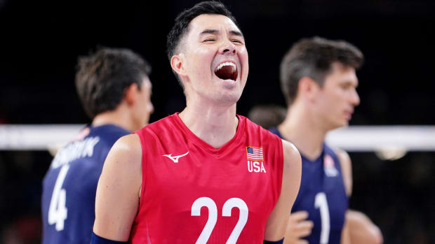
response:
[(293, 104), (278, 129), (286, 140), (295, 144), (304, 157), (314, 160), (321, 155), (328, 130), (322, 127), (319, 118), (310, 113), (309, 108)]

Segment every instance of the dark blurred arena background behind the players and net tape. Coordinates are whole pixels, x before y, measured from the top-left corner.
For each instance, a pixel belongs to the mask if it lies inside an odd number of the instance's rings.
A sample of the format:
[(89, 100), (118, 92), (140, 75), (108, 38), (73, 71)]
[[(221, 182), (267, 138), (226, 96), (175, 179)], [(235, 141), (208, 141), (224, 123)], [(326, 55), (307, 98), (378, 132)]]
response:
[[(90, 122), (74, 73), (77, 57), (98, 45), (130, 48), (152, 64), (151, 122), (181, 111), (185, 99), (166, 58), (166, 34), (196, 2), (0, 0), (0, 124)], [(284, 106), (281, 58), (300, 38), (322, 36), (349, 41), (366, 56), (351, 125), (435, 124), (435, 1), (222, 2), (249, 53), (239, 114), (260, 104)], [(435, 152), (350, 156), (350, 206), (380, 227), (384, 243), (435, 243)], [(0, 243), (39, 243), (41, 179), (51, 159), (44, 150), (0, 150)]]

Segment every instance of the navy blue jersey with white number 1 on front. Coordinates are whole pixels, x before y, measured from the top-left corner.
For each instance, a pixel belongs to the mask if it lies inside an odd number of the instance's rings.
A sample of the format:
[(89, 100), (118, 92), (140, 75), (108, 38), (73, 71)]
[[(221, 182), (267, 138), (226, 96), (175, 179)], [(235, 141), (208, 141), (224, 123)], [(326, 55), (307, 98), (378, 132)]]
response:
[[(276, 128), (272, 133), (283, 138)], [(319, 158), (311, 161), (302, 155), (302, 178), (292, 213), (305, 210), (314, 223), (312, 234), (304, 238), (310, 244), (338, 244), (348, 206), (340, 161), (323, 143)]]

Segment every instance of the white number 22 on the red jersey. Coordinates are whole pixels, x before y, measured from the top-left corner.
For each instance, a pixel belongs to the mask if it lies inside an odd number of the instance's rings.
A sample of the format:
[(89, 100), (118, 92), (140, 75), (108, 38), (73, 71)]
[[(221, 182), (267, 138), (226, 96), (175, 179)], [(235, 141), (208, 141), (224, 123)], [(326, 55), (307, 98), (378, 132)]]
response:
[[(201, 232), (201, 235), (199, 235), (196, 244), (207, 243), (208, 238), (210, 238), (211, 232), (215, 228), (215, 224), (217, 222), (216, 203), (215, 201), (206, 196), (200, 197), (199, 199), (196, 199), (196, 201), (194, 201), (194, 203), (192, 204), (191, 215), (200, 216), (202, 207), (208, 208), (208, 220), (206, 222), (206, 226)], [(228, 199), (224, 203), (224, 206), (222, 207), (222, 216), (231, 217), (231, 210), (234, 207), (239, 208), (240, 210), (239, 221), (237, 221), (237, 224), (234, 227), (231, 235), (229, 236), (226, 244), (235, 244), (237, 242), (237, 239), (239, 239), (243, 227), (245, 227), (246, 222), (248, 222), (248, 206), (242, 199), (239, 198)]]

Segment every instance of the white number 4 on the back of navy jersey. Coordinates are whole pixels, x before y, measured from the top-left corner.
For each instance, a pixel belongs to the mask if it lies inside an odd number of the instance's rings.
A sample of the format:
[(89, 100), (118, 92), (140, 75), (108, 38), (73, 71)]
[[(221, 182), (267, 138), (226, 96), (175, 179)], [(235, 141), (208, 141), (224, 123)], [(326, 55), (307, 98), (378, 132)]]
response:
[(67, 176), (69, 164), (60, 168), (58, 178), (55, 182), (53, 194), (51, 195), (50, 207), (48, 208), (48, 224), (56, 224), (56, 231), (62, 231), (67, 219), (67, 191), (62, 189), (63, 181)]

